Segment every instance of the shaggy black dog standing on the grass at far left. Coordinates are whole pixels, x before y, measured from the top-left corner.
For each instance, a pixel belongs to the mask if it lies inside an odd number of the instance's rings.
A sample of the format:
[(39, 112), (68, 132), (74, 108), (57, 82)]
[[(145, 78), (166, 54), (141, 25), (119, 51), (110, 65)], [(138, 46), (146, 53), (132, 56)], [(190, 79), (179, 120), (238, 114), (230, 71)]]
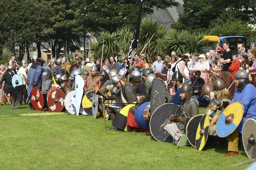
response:
[(15, 88), (13, 88), (11, 109), (13, 109), (13, 105), (15, 106), (16, 110), (18, 109), (17, 103), (20, 101), (23, 95), (27, 95), (26, 85), (17, 85)]

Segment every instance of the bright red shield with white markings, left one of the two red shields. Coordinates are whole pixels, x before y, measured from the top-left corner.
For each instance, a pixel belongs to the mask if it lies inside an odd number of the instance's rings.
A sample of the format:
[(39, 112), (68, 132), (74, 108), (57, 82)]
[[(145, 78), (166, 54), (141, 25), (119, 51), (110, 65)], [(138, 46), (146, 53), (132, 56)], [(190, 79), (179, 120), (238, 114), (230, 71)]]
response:
[(33, 88), (31, 93), (31, 103), (35, 110), (41, 111), (44, 107), (44, 97), (38, 88)]

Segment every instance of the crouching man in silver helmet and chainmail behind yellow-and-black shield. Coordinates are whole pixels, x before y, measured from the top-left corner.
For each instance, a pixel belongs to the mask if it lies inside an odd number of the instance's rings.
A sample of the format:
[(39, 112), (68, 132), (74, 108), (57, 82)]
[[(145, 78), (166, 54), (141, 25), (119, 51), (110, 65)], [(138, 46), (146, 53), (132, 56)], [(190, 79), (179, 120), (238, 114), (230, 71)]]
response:
[[(116, 113), (118, 113), (123, 107), (125, 107), (127, 104), (125, 103), (133, 103), (137, 101), (136, 94), (134, 92), (134, 88), (128, 83), (125, 82), (124, 79), (119, 77), (118, 75), (114, 75), (112, 77), (113, 85), (115, 85), (117, 88), (121, 88), (121, 91), (118, 94), (103, 97), (104, 100), (115, 100), (118, 98), (121, 98), (121, 101), (123, 104), (114, 104), (111, 106), (108, 106), (108, 114), (111, 117), (111, 121), (113, 122)], [(116, 129), (116, 127), (111, 127), (110, 129)]]

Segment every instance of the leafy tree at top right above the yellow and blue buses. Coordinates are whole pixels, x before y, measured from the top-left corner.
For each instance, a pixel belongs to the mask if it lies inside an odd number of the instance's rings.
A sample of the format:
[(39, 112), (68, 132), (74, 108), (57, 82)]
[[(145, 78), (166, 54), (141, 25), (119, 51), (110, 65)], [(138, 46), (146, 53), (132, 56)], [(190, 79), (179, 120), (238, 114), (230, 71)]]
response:
[(172, 24), (175, 29), (204, 31), (217, 17), (227, 20), (229, 16), (249, 21), (253, 19), (250, 0), (187, 0), (184, 1), (184, 13), (178, 22)]

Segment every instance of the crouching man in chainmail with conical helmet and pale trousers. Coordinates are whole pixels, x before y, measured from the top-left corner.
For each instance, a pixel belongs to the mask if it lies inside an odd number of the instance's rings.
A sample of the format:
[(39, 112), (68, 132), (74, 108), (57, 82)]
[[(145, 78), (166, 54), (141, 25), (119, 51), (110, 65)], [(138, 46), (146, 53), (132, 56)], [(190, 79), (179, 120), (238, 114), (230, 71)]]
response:
[(180, 97), (183, 103), (180, 107), (180, 116), (172, 115), (170, 119), (164, 122), (164, 129), (170, 133), (174, 139), (174, 144), (177, 145), (185, 127), (185, 120), (199, 114), (198, 104), (192, 98), (192, 88), (189, 84), (184, 83), (180, 88)]

